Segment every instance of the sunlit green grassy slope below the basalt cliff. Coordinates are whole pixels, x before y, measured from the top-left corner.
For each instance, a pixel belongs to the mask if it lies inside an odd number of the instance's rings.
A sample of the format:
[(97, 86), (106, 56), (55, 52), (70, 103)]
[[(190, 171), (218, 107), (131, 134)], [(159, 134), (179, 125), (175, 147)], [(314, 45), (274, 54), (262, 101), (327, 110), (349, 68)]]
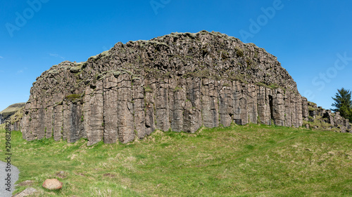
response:
[[(348, 133), (234, 125), (87, 147), (14, 131), (11, 143), (18, 183), (33, 180), (37, 196), (352, 196)], [(43, 189), (46, 178), (63, 189)]]

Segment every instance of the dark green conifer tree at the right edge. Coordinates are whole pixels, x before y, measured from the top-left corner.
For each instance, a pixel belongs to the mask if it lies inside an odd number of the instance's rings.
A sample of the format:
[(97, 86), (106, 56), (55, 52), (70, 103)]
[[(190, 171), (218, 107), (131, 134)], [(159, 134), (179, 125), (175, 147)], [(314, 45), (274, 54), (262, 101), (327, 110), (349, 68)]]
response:
[(335, 97), (332, 97), (332, 99), (335, 101), (332, 106), (336, 108), (331, 110), (339, 111), (342, 117), (348, 118), (352, 122), (351, 90), (341, 88), (341, 90), (337, 90)]

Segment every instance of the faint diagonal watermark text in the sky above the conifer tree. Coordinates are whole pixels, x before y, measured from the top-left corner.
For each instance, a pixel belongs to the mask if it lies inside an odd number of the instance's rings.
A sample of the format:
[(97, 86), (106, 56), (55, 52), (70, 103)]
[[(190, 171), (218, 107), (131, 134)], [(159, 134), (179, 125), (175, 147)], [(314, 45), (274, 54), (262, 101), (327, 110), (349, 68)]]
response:
[[(334, 62), (334, 66), (329, 67), (325, 72), (320, 72), (319, 76), (315, 76), (312, 80), (313, 86), (315, 86), (316, 90), (322, 91), (324, 90), (327, 83), (330, 83), (332, 79), (337, 77), (339, 71), (343, 70), (349, 62), (352, 61), (352, 57), (347, 57), (347, 53), (344, 55), (337, 53), (337, 59)], [(315, 94), (312, 90), (306, 90), (304, 92), (304, 97), (308, 100), (313, 100), (315, 98)]]

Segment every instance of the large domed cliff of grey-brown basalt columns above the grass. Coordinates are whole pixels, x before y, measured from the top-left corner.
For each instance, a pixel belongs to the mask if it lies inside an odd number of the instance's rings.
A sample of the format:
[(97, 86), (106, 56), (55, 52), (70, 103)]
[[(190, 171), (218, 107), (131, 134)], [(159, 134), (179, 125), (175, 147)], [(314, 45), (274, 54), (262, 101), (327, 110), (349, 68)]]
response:
[(33, 83), (25, 140), (126, 143), (154, 130), (195, 133), (231, 123), (301, 126), (308, 103), (277, 58), (202, 31), (117, 43), (87, 62), (62, 62)]

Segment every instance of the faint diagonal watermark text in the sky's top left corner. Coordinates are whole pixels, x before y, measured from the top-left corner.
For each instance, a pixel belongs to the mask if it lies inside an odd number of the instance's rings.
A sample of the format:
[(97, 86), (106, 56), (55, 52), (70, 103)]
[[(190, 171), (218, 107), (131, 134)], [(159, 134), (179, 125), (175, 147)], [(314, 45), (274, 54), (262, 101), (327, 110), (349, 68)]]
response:
[(28, 0), (28, 7), (25, 8), (22, 13), (15, 12), (15, 22), (6, 22), (5, 25), (11, 38), (13, 37), (13, 32), (20, 31), (21, 27), (24, 27), (27, 24), (27, 21), (34, 17), (34, 13), (37, 13), (42, 9), (42, 4), (46, 4), (48, 1), (49, 0)]

